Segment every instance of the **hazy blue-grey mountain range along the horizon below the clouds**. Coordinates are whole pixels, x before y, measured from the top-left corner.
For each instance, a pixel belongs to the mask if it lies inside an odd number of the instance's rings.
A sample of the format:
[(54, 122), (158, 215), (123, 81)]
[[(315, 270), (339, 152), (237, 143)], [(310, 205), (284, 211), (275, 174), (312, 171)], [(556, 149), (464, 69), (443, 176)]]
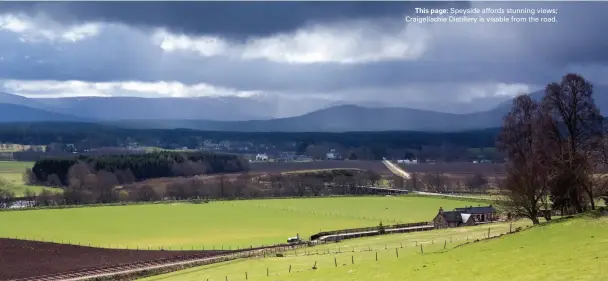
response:
[[(543, 92), (530, 94), (539, 100)], [(608, 87), (595, 88), (608, 115)], [(302, 101), (315, 105), (314, 99)], [(454, 114), (403, 107), (334, 103), (295, 117), (273, 118), (280, 104), (264, 98), (85, 97), (29, 99), (0, 93), (0, 122), (94, 122), (126, 128), (244, 132), (463, 131), (498, 127), (511, 101), (482, 112)], [(326, 107), (326, 108), (324, 108)], [(302, 107), (303, 108), (303, 107)], [(300, 108), (299, 110), (303, 110)], [(250, 121), (242, 121), (250, 120)]]

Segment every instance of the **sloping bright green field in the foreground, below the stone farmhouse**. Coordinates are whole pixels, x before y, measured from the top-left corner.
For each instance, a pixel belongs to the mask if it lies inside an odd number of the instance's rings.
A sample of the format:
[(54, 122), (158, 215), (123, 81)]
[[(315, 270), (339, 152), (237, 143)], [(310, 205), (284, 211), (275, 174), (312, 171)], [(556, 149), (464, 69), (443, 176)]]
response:
[[(457, 247), (467, 238), (487, 236), (488, 226), (346, 240), (309, 248), (308, 255), (300, 249), (297, 256), (237, 260), (144, 280), (240, 281), (245, 280), (245, 272), (254, 281), (608, 280), (608, 218), (554, 222)], [(508, 224), (489, 227), (494, 234), (509, 231)], [(327, 253), (327, 248), (330, 254), (319, 254)]]

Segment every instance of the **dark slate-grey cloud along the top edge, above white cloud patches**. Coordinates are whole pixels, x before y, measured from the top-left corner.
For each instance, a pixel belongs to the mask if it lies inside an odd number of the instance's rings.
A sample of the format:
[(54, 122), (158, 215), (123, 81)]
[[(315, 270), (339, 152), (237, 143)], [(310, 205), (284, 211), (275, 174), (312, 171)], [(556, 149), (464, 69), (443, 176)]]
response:
[(0, 2), (0, 11), (43, 13), (61, 22), (105, 21), (243, 38), (288, 32), (311, 22), (402, 19), (415, 7), (467, 2)]

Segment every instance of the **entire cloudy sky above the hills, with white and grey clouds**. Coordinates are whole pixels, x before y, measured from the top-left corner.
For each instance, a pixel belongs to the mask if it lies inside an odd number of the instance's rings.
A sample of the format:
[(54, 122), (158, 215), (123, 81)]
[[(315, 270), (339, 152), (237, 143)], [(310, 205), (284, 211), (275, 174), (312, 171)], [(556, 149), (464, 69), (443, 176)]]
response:
[[(406, 22), (426, 16), (415, 8), (558, 14), (556, 23)], [(0, 92), (471, 112), (568, 72), (608, 84), (606, 14), (602, 2), (0, 2)]]

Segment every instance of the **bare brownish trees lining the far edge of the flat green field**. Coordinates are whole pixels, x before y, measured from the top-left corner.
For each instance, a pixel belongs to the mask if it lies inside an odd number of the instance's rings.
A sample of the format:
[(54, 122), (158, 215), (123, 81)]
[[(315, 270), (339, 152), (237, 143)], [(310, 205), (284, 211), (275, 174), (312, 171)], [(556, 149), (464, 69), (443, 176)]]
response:
[[(44, 190), (26, 192), (21, 200), (30, 207), (84, 205), (118, 202), (152, 202), (162, 200), (250, 199), (271, 197), (304, 197), (372, 194), (366, 186), (377, 185), (381, 176), (371, 170), (339, 169), (302, 173), (251, 175), (248, 173), (174, 178), (166, 185), (127, 183), (117, 188), (116, 174), (94, 171), (84, 162), (70, 167), (69, 185), (63, 193)], [(0, 196), (3, 193), (0, 192)], [(3, 198), (8, 206), (14, 198)], [(5, 207), (6, 207), (5, 206)]]

